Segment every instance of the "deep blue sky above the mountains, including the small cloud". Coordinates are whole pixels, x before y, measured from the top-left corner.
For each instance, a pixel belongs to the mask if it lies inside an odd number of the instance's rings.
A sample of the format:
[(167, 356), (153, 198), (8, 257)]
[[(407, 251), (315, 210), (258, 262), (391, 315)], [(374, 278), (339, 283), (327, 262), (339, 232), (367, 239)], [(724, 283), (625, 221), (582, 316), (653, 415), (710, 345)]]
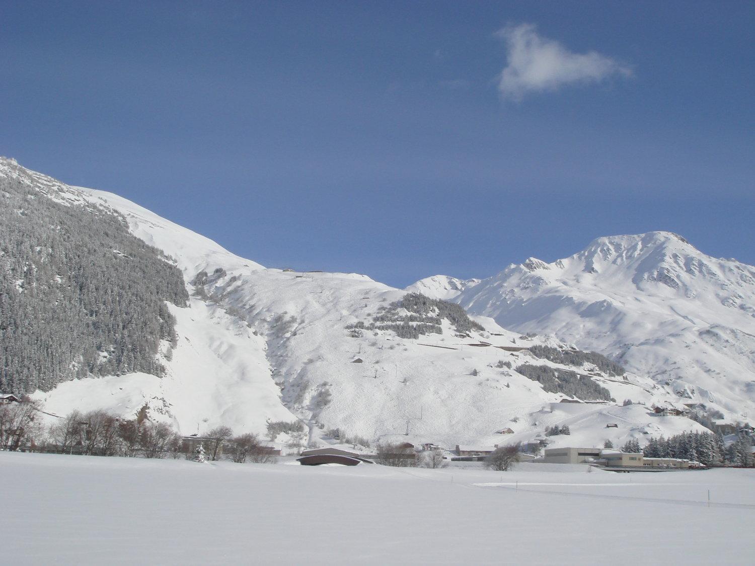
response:
[(0, 154), (396, 286), (655, 229), (753, 264), (753, 26), (752, 2), (3, 2)]

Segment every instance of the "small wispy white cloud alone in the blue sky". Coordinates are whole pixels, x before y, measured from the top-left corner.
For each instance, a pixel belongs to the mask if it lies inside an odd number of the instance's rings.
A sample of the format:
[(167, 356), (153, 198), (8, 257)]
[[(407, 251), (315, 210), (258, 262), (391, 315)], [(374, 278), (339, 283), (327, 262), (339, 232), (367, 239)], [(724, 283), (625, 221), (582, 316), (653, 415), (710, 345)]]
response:
[(599, 82), (612, 75), (632, 75), (632, 69), (611, 57), (590, 51), (572, 53), (559, 42), (543, 38), (530, 23), (506, 26), (498, 32), (507, 46), (507, 66), (498, 90), (513, 100), (529, 92), (556, 91), (564, 85)]

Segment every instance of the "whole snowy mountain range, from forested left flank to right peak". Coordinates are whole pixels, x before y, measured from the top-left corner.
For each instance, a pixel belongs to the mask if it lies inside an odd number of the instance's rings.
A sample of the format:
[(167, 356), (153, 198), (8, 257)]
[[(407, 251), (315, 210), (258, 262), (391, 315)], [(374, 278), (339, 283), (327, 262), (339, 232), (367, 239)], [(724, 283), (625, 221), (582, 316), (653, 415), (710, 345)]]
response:
[[(187, 433), (285, 421), (310, 444), (453, 446), (532, 441), (555, 425), (571, 436), (554, 445), (620, 445), (703, 430), (652, 405), (726, 420), (753, 411), (755, 269), (666, 232), (399, 290), (267, 269), (11, 159), (0, 159), (0, 205), (15, 242), (0, 242), (0, 389), (52, 414), (148, 405)], [(75, 333), (24, 331), (25, 312)]]

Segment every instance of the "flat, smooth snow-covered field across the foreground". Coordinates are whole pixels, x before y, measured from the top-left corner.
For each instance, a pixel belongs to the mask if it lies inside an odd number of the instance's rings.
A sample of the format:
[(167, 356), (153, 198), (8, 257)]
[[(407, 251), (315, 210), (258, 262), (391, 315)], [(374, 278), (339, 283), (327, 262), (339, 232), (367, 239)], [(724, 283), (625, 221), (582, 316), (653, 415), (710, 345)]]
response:
[(4, 564), (752, 564), (755, 555), (752, 469), (522, 463), (501, 473), (0, 452), (0, 483)]

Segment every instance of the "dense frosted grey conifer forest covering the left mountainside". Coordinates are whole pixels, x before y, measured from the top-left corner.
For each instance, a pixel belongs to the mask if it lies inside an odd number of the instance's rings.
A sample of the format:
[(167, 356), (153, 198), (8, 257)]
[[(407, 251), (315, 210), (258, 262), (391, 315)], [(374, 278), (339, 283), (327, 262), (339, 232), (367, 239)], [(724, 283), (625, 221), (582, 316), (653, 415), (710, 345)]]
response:
[(0, 390), (161, 374), (160, 341), (175, 340), (165, 303), (188, 299), (180, 270), (119, 214), (51, 198), (54, 186), (11, 168), (0, 177)]

